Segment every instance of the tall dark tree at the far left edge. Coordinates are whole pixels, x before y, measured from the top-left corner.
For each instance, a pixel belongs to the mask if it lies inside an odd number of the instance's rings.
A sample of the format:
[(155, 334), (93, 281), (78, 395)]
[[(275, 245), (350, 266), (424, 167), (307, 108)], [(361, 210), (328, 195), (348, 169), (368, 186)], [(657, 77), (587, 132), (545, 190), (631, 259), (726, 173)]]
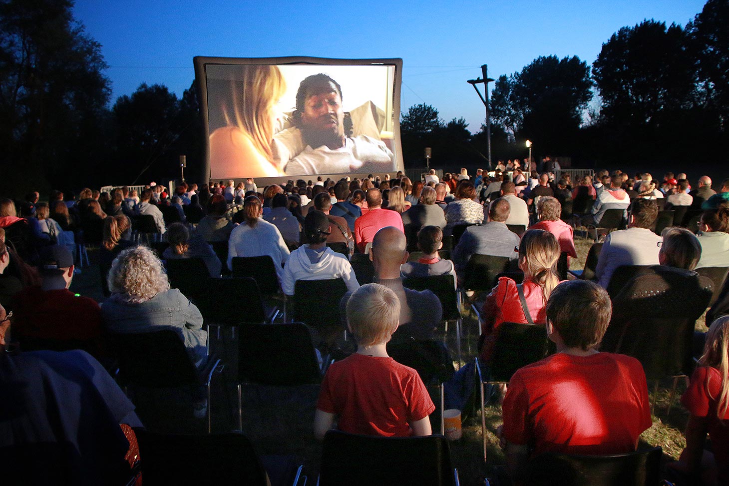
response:
[(0, 156), (17, 173), (33, 168), (33, 177), (47, 174), (56, 185), (78, 181), (103, 155), (100, 120), (110, 94), (101, 45), (74, 21), (72, 7), (69, 0), (0, 2)]

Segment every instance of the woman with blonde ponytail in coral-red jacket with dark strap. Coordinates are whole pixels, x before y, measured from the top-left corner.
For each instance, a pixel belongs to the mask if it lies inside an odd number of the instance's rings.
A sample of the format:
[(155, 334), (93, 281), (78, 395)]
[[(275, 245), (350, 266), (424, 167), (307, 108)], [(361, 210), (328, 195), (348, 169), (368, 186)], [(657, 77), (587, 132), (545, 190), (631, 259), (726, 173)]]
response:
[(481, 359), (491, 360), (496, 331), (501, 323), (544, 324), (547, 322), (547, 298), (558, 285), (557, 261), (560, 247), (549, 231), (531, 229), (518, 246), (519, 268), (523, 283), (499, 277), (483, 304), (481, 323)]

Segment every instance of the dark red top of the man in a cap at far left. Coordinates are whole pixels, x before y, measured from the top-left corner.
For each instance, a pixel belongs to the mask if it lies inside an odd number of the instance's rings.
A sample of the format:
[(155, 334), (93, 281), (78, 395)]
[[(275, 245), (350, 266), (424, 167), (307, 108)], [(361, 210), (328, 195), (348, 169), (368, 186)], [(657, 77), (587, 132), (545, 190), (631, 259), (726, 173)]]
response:
[(42, 339), (98, 339), (101, 308), (93, 298), (77, 297), (70, 290), (28, 287), (12, 299), (13, 331)]

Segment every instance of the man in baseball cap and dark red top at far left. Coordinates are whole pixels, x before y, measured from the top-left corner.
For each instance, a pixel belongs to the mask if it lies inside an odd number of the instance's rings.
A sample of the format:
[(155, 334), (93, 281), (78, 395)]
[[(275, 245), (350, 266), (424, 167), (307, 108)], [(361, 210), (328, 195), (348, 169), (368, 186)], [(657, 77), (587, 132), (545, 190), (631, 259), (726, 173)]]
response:
[(21, 347), (82, 347), (101, 353), (101, 308), (93, 298), (69, 290), (74, 257), (65, 246), (44, 247), (40, 253), (41, 285), (28, 287), (10, 304), (13, 331)]

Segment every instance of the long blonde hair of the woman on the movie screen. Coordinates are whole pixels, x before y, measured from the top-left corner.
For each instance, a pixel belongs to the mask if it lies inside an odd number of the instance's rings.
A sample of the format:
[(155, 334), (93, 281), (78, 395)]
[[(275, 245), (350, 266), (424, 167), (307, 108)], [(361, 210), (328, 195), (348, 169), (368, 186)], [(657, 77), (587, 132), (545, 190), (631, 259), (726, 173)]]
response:
[[(241, 83), (243, 89), (241, 90)], [(223, 110), (225, 123), (235, 125), (251, 136), (256, 149), (273, 161), (271, 110), (286, 91), (286, 82), (276, 66), (244, 66), (230, 82), (233, 117)]]

